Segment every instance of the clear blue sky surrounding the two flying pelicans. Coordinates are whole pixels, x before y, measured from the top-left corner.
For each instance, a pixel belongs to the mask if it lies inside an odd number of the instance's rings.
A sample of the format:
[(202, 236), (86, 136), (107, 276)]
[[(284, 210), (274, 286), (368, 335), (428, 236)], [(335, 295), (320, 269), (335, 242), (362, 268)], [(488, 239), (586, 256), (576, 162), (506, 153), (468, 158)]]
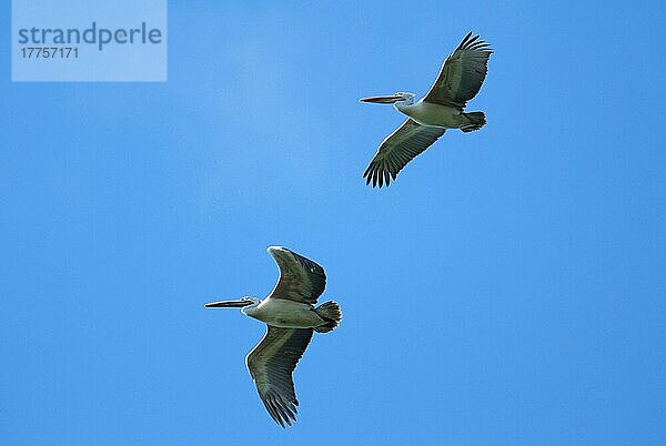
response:
[[(0, 10), (0, 443), (666, 443), (663, 2), (195, 3), (165, 83), (11, 83)], [(366, 187), (468, 30), (488, 124)], [(287, 430), (202, 307), (274, 244), (345, 316)]]

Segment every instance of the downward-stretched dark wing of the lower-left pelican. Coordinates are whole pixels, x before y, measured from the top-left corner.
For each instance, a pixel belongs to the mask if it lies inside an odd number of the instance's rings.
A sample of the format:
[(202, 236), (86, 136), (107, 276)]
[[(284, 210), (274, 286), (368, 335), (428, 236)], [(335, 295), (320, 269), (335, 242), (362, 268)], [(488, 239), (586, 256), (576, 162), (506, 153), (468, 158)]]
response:
[(275, 423), (296, 420), (296, 393), (292, 372), (312, 338), (312, 328), (268, 326), (266, 334), (245, 357), (259, 396)]

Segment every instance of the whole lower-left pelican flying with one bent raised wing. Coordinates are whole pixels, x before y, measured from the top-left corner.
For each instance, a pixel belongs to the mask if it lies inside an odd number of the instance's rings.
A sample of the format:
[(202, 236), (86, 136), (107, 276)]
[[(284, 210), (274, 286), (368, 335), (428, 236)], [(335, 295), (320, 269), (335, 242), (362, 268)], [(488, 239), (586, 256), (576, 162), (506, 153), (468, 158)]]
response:
[(266, 334), (248, 354), (245, 364), (266, 410), (284, 427), (284, 423), (291, 426), (296, 420), (299, 405), (292, 372), (313, 330), (331, 332), (340, 324), (342, 312), (333, 301), (314, 306), (326, 286), (323, 267), (286, 247), (271, 246), (266, 251), (280, 268), (280, 278), (269, 297), (242, 297), (204, 306), (241, 307), (243, 314), (266, 323)]

